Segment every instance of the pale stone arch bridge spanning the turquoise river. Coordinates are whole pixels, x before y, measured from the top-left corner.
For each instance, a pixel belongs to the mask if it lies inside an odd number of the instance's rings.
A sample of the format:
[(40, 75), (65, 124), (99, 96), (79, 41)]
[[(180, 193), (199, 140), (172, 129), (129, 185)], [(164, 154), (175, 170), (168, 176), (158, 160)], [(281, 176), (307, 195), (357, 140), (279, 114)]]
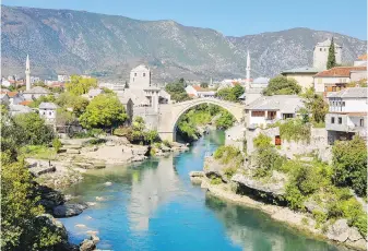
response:
[(225, 101), (213, 97), (197, 98), (176, 104), (164, 104), (159, 106), (157, 132), (162, 140), (175, 141), (176, 127), (181, 115), (190, 108), (201, 105), (212, 104), (229, 111), (240, 123), (244, 122), (245, 107), (241, 104)]

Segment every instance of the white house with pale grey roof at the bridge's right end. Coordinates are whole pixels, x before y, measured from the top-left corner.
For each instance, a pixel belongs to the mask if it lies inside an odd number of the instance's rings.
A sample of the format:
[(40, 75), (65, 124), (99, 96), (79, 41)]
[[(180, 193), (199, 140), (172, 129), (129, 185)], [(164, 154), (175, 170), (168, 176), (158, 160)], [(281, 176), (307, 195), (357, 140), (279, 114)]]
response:
[(246, 127), (264, 128), (278, 120), (296, 118), (302, 107), (297, 95), (262, 96), (246, 106)]

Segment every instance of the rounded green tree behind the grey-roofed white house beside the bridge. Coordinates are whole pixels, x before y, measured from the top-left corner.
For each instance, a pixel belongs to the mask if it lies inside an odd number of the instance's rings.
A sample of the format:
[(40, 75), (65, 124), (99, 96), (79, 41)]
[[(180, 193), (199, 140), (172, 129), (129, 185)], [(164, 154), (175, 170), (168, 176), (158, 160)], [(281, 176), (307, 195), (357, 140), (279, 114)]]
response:
[(268, 87), (263, 89), (263, 95), (293, 95), (299, 94), (300, 92), (301, 86), (298, 85), (296, 80), (278, 75), (270, 80)]

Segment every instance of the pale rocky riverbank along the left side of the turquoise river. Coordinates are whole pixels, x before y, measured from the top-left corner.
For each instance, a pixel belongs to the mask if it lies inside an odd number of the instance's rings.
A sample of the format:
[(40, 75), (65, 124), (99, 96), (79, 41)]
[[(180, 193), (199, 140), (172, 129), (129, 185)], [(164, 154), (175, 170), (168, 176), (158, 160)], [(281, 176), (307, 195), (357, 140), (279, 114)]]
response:
[[(56, 158), (26, 158), (31, 174), (36, 180), (36, 192), (40, 196), (39, 204), (47, 214), (41, 215), (43, 224), (52, 225), (60, 232), (62, 247), (60, 250), (95, 250), (99, 241), (97, 232), (91, 232), (91, 238), (79, 246), (68, 243), (68, 232), (57, 218), (72, 217), (81, 214), (88, 206), (94, 206), (104, 198), (96, 198), (95, 202), (82, 202), (78, 198), (64, 195), (62, 191), (83, 179), (83, 172), (88, 169), (100, 169), (112, 165), (126, 165), (141, 162), (150, 156), (153, 146), (131, 144), (124, 138), (106, 136), (103, 139), (62, 140), (63, 146)], [(188, 151), (188, 146), (180, 143), (154, 146), (157, 156), (174, 152)], [(104, 186), (110, 186), (106, 182)]]

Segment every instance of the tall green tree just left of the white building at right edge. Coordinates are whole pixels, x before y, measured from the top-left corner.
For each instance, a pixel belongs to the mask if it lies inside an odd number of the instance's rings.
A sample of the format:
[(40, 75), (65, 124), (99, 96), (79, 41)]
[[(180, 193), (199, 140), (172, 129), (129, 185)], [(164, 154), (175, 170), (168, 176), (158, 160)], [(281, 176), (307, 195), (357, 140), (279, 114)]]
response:
[(324, 117), (329, 112), (329, 105), (323, 100), (323, 97), (314, 93), (314, 88), (308, 88), (301, 94), (305, 107), (308, 113), (311, 115), (312, 122), (317, 124), (324, 122)]

